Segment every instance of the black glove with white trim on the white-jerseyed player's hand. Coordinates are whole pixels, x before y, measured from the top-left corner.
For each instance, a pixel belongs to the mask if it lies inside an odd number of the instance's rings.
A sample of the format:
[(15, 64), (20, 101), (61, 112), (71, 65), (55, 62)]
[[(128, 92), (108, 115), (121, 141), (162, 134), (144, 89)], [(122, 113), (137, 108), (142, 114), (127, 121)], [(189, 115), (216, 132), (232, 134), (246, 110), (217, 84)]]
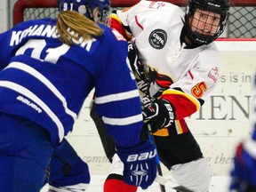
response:
[(174, 112), (168, 100), (154, 100), (148, 107), (142, 109), (143, 120), (150, 125), (152, 133), (170, 126), (175, 119)]

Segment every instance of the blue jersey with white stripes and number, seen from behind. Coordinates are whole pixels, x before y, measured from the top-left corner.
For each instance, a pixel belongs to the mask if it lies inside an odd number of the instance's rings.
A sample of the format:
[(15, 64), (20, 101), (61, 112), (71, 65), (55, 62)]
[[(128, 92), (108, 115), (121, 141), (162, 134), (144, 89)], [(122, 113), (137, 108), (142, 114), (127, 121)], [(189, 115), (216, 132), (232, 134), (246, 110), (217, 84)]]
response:
[(127, 44), (103, 36), (60, 42), (56, 20), (29, 20), (0, 34), (0, 111), (47, 129), (58, 144), (72, 131), (88, 93), (119, 147), (140, 142), (140, 97), (126, 63)]

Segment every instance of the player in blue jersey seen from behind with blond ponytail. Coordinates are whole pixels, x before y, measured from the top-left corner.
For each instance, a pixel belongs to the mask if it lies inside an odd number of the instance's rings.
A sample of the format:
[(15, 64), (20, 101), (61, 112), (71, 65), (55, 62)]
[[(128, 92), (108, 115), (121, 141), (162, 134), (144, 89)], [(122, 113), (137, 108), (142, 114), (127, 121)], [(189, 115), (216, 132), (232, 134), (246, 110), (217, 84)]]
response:
[(29, 20), (0, 34), (1, 192), (43, 187), (52, 155), (65, 145), (93, 87), (96, 111), (124, 162), (124, 180), (148, 188), (156, 177), (156, 148), (140, 139), (140, 97), (126, 63), (127, 43), (92, 21), (100, 13), (89, 1), (60, 1), (60, 8), (57, 19)]

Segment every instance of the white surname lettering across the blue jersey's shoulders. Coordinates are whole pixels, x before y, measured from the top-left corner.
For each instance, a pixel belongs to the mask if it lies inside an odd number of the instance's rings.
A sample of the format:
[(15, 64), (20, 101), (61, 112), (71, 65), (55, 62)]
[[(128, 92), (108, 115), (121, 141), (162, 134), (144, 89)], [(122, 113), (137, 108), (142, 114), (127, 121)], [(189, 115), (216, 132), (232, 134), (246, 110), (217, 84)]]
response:
[[(70, 34), (74, 35), (74, 31), (69, 31)], [(32, 25), (24, 30), (13, 30), (12, 31), (12, 38), (10, 41), (10, 46), (20, 44), (23, 38), (27, 36), (43, 36), (43, 37), (49, 37), (49, 38), (59, 38), (60, 35), (58, 34), (56, 30), (56, 26), (52, 25)], [(86, 51), (90, 51), (92, 47), (92, 43), (95, 42), (96, 39), (92, 38), (89, 40), (84, 40), (83, 37), (80, 37), (78, 41), (76, 39), (73, 39), (74, 44), (80, 44), (81, 47), (83, 47)]]

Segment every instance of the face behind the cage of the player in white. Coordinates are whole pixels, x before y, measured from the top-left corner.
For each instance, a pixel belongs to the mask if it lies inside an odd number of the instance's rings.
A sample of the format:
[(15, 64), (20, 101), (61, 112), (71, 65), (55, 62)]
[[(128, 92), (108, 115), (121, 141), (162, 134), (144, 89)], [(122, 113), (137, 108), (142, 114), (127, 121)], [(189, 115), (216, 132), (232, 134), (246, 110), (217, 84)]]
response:
[(213, 36), (220, 24), (220, 14), (196, 9), (194, 16), (190, 18), (190, 27), (193, 32)]

